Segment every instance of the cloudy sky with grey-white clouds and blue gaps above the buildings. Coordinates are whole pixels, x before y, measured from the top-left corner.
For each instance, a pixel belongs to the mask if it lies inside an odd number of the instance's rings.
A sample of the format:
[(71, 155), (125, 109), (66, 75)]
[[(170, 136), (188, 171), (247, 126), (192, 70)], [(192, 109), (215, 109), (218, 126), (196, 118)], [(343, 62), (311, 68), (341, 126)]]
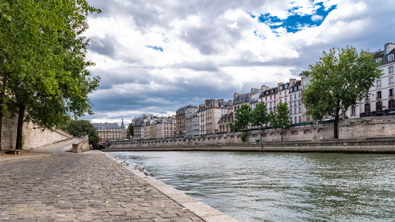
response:
[(88, 0), (92, 122), (173, 115), (298, 78), (322, 51), (395, 42), (395, 1)]

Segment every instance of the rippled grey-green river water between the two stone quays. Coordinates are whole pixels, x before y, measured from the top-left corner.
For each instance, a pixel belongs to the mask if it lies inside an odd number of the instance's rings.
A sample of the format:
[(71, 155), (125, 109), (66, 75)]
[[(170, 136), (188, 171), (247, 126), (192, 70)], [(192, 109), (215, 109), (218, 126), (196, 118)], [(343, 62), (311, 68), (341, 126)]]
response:
[(395, 155), (111, 153), (240, 221), (395, 221)]

